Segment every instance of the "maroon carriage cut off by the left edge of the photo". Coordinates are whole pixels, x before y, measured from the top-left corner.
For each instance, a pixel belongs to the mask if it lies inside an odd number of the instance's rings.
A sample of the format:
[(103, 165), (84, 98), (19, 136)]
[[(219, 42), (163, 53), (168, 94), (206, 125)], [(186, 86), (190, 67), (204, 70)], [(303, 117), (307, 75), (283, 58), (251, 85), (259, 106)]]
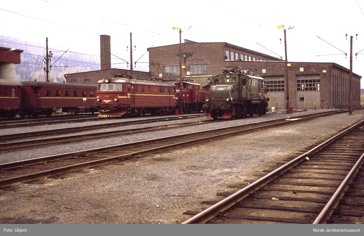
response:
[(0, 117), (13, 118), (20, 108), (21, 83), (11, 79), (0, 79)]

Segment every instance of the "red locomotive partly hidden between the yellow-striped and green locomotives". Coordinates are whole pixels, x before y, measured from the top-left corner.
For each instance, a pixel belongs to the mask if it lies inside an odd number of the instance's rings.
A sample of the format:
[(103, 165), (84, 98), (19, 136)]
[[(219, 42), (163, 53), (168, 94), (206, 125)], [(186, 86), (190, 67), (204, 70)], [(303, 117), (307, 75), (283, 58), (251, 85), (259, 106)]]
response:
[[(200, 84), (191, 81), (182, 81), (182, 96), (179, 95), (179, 82), (176, 85), (176, 96), (182, 99), (182, 112), (191, 113), (202, 111), (202, 106), (206, 102), (207, 91), (200, 89)], [(178, 104), (177, 104), (178, 105)]]

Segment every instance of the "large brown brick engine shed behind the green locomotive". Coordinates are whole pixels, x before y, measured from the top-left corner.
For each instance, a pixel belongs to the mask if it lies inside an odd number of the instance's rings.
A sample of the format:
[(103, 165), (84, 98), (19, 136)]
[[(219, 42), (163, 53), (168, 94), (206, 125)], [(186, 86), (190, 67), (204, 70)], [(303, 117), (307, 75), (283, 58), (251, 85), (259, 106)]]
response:
[[(179, 79), (179, 44), (152, 47), (149, 70), (175, 82)], [(269, 106), (284, 109), (285, 62), (260, 52), (226, 42), (182, 44), (182, 77), (193, 78), (202, 86), (223, 67), (239, 66), (265, 78)], [(349, 70), (336, 63), (289, 62), (289, 106), (293, 108), (347, 108), (349, 106)], [(360, 106), (361, 76), (353, 73), (353, 106)]]

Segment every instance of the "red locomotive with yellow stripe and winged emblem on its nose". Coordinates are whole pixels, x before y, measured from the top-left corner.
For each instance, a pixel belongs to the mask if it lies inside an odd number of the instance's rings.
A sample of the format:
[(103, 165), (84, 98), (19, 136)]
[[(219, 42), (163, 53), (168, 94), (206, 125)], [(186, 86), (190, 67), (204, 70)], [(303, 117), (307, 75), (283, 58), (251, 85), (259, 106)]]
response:
[(175, 85), (153, 79), (104, 78), (98, 81), (94, 108), (101, 117), (174, 114)]

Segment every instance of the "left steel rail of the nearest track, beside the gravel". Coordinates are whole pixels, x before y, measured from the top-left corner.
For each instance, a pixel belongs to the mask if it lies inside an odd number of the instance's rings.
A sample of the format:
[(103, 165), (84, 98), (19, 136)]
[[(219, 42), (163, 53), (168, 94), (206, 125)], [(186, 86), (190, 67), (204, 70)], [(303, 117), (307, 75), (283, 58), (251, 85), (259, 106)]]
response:
[(241, 201), (242, 199), (247, 197), (249, 195), (249, 193), (258, 190), (261, 186), (267, 184), (268, 182), (270, 182), (271, 180), (273, 180), (280, 174), (284, 173), (286, 170), (297, 165), (299, 162), (304, 161), (306, 157), (312, 156), (314, 153), (317, 153), (323, 147), (329, 145), (330, 143), (334, 142), (336, 139), (342, 137), (343, 135), (347, 134), (352, 129), (354, 129), (355, 127), (357, 127), (363, 123), (364, 123), (364, 120), (357, 122), (355, 125), (352, 125), (348, 129), (341, 131), (339, 134), (333, 136), (332, 138), (329, 138), (327, 141), (321, 143), (320, 145), (317, 145), (316, 147), (309, 150), (308, 152), (301, 154), (300, 156), (294, 158), (293, 160), (291, 160), (291, 161), (287, 162), (286, 164), (282, 165), (281, 167), (277, 168), (276, 170), (273, 170), (269, 174), (254, 181), (252, 184), (250, 184), (250, 185), (246, 186), (245, 188), (239, 190), (238, 192), (230, 195), (229, 197), (224, 198), (222, 201), (217, 202), (216, 204), (203, 210), (202, 212), (198, 213), (197, 215), (191, 217), (190, 219), (182, 222), (182, 224), (206, 223), (207, 221), (211, 220), (213, 217), (217, 216), (219, 214), (219, 212), (223, 212), (226, 209), (229, 209), (230, 207), (235, 205), (235, 202)]

